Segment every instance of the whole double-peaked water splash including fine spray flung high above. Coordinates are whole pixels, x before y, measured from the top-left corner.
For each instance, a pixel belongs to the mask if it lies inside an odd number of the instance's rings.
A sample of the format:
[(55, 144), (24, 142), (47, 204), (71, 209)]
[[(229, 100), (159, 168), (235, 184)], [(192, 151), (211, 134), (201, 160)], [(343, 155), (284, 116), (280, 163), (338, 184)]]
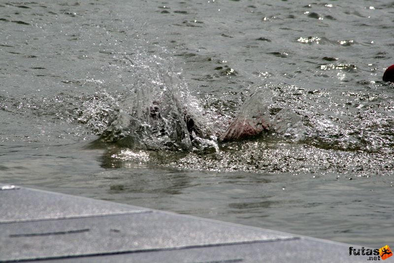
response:
[[(267, 131), (296, 136), (297, 116), (291, 110), (272, 114), (273, 94), (260, 87), (240, 108), (227, 129), (214, 112), (204, 112), (180, 72), (172, 68), (170, 55), (152, 55), (137, 47), (132, 55), (116, 59), (130, 76), (126, 93), (101, 105), (107, 127), (99, 140), (131, 150), (199, 151), (218, 153), (218, 141), (260, 135)], [(104, 103), (105, 104), (105, 103)], [(290, 135), (289, 135), (290, 134)], [(218, 139), (219, 138), (219, 139)]]

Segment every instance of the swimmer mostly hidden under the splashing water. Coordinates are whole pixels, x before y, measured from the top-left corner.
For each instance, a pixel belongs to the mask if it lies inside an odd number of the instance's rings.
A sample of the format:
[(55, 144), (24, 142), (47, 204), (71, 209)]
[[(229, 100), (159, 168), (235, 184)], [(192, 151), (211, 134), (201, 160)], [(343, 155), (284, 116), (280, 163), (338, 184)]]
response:
[[(238, 140), (270, 130), (268, 105), (272, 94), (269, 91), (252, 94), (223, 131), (212, 127), (191, 103), (181, 101), (182, 97), (175, 96), (172, 90), (154, 94), (154, 88), (147, 92), (149, 96), (137, 93), (132, 97), (131, 113), (115, 114), (99, 140), (133, 149), (191, 150), (196, 147), (217, 151), (218, 140)], [(155, 99), (149, 102), (152, 98)]]

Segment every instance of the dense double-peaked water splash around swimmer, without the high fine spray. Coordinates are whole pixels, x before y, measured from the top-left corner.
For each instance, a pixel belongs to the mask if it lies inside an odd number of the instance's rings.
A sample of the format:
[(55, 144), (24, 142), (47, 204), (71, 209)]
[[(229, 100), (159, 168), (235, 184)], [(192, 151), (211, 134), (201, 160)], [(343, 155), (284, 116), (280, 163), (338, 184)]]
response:
[[(298, 140), (303, 134), (300, 117), (285, 108), (272, 116), (274, 96), (260, 89), (247, 99), (226, 131), (205, 118), (197, 99), (179, 79), (166, 72), (164, 81), (133, 86), (110, 112), (109, 126), (100, 139), (138, 150), (199, 150), (219, 152), (218, 139), (228, 141), (272, 131)], [(183, 84), (183, 85), (182, 85)]]

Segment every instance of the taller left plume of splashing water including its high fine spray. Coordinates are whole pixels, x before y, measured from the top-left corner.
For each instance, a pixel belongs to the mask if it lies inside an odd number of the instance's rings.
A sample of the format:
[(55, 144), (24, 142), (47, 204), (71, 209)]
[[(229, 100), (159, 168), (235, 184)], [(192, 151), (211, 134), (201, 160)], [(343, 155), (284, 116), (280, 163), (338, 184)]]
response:
[[(178, 73), (159, 56), (137, 54), (131, 62), (134, 84), (110, 108), (100, 140), (138, 150), (190, 151), (214, 141), (209, 121)], [(196, 138), (198, 138), (196, 140)], [(209, 138), (209, 139), (207, 139)]]

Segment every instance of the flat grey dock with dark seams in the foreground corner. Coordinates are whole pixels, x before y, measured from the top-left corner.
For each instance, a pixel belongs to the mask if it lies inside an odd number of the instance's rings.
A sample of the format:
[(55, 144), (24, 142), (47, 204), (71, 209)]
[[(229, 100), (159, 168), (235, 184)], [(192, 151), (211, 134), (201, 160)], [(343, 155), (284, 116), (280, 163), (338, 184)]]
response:
[(332, 263), (369, 260), (369, 256), (350, 256), (350, 246), (0, 184), (0, 262)]

